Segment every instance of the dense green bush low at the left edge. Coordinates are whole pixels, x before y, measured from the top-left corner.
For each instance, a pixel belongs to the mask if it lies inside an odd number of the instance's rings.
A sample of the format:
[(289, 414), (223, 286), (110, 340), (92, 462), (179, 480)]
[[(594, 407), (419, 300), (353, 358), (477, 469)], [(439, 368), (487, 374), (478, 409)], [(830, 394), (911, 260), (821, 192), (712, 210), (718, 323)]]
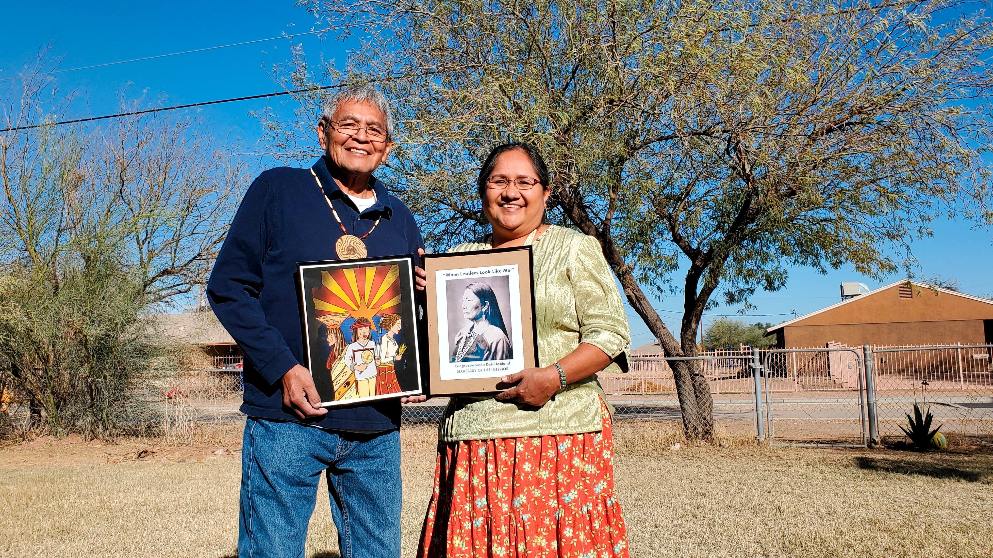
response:
[(58, 288), (24, 268), (0, 275), (0, 376), (56, 436), (111, 438), (140, 422), (135, 388), (168, 353), (141, 314), (142, 282), (115, 259), (73, 262)]

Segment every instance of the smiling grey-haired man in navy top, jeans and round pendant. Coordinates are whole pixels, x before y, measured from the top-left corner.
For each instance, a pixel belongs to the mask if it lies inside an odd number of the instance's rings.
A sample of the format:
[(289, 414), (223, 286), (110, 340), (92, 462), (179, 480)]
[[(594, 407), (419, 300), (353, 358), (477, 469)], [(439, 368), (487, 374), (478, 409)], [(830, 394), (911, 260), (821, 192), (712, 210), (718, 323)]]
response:
[(310, 169), (259, 175), (214, 264), (213, 312), (246, 356), (241, 557), (303, 555), (324, 472), (342, 555), (399, 556), (400, 404), (321, 407), (301, 365), (294, 282), (300, 261), (423, 248), (410, 210), (372, 176), (392, 133), (381, 92), (341, 89), (317, 124), (325, 155)]

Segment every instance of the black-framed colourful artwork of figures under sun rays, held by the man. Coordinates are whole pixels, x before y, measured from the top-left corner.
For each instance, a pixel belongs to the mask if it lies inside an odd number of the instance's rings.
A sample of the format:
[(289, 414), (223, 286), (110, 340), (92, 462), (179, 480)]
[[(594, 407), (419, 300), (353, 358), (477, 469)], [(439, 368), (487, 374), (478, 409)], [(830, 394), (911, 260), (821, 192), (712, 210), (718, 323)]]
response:
[(422, 393), (413, 257), (298, 264), (307, 368), (322, 406)]

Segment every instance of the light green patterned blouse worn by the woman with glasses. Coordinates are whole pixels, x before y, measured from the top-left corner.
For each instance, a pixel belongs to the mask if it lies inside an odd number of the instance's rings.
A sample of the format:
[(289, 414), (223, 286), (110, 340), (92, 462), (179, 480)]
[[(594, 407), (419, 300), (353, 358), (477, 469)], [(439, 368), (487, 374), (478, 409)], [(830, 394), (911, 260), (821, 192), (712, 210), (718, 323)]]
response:
[[(483, 242), (466, 242), (450, 251), (486, 247)], [(588, 343), (614, 360), (608, 371), (627, 372), (631, 331), (614, 273), (597, 239), (552, 225), (531, 249), (538, 365), (551, 365)], [(540, 408), (493, 396), (453, 397), (439, 437), (455, 442), (596, 432), (603, 429), (601, 400), (607, 401), (596, 374), (569, 384)]]

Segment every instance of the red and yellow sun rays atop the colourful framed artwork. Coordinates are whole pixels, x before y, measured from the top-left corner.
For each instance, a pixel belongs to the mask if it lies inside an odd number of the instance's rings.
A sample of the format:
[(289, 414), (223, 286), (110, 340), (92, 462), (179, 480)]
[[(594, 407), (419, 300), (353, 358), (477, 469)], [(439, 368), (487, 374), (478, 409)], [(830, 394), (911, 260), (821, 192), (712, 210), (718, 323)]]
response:
[(366, 318), (400, 311), (400, 266), (378, 265), (321, 272), (321, 287), (311, 289), (317, 317), (348, 314)]

